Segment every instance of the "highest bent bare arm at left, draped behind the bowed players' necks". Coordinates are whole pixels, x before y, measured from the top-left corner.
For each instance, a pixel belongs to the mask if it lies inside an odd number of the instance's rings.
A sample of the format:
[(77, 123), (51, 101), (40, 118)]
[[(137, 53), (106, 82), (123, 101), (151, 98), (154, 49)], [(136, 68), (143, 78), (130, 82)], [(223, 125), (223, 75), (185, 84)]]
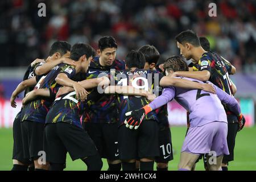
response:
[(48, 73), (53, 67), (61, 63), (76, 66), (75, 61), (73, 61), (72, 59), (69, 59), (68, 57), (61, 57), (60, 59), (57, 59), (55, 61), (47, 61), (46, 64), (40, 65), (35, 69), (35, 73), (36, 75), (43, 75), (45, 73)]

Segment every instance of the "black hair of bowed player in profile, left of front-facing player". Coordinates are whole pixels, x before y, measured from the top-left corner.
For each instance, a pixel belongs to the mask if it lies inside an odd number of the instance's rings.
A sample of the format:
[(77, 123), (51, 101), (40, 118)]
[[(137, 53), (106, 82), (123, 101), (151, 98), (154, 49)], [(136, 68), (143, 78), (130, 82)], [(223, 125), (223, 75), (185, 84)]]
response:
[(89, 44), (76, 43), (71, 48), (70, 59), (78, 61), (79, 58), (83, 55), (86, 55), (86, 59), (90, 56), (94, 57), (96, 55), (95, 50)]

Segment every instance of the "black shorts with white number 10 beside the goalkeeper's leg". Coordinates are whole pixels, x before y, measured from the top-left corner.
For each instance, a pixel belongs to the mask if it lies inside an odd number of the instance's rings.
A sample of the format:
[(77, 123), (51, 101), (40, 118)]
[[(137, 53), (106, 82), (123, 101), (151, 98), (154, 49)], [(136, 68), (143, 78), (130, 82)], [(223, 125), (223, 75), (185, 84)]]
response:
[(170, 160), (174, 159), (171, 130), (168, 127), (159, 131), (159, 147), (160, 156), (155, 158), (156, 163), (168, 163)]

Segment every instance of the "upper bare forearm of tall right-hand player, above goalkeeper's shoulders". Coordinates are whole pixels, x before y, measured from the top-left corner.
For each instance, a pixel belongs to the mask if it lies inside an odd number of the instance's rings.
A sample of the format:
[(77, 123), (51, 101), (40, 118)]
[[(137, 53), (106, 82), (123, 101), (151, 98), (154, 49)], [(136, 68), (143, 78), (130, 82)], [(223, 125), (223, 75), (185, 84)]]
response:
[(210, 78), (210, 72), (207, 70), (197, 72), (175, 72), (175, 76), (183, 76), (188, 78), (194, 78), (200, 81), (208, 81)]

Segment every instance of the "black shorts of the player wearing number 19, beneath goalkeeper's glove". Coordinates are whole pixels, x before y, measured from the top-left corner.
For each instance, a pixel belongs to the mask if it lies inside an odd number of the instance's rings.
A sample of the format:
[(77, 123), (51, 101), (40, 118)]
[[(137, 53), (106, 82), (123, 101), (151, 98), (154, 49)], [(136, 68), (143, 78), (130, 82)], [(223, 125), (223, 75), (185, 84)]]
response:
[(125, 125), (118, 129), (118, 150), (121, 160), (155, 158), (159, 156), (159, 125), (144, 120), (137, 130)]

